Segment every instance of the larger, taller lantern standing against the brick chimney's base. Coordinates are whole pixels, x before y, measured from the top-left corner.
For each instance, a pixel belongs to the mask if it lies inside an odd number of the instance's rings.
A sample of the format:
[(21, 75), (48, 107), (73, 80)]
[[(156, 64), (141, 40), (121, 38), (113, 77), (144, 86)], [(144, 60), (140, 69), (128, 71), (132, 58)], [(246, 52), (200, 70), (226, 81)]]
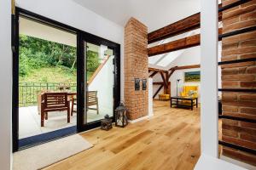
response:
[(116, 127), (125, 127), (127, 122), (126, 116), (127, 109), (123, 102), (120, 102), (119, 106), (115, 110), (115, 126)]

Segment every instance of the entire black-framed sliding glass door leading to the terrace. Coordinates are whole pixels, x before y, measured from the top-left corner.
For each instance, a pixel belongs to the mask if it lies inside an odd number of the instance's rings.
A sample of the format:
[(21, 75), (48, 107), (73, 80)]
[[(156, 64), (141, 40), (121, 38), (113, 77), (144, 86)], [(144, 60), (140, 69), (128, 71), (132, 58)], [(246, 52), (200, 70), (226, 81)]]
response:
[[(118, 43), (22, 8), (16, 8), (13, 24), (14, 151), (99, 127), (106, 115), (114, 120), (120, 100)], [(53, 95), (67, 95), (65, 111), (58, 110), (59, 100), (46, 111), (53, 105), (47, 96)]]

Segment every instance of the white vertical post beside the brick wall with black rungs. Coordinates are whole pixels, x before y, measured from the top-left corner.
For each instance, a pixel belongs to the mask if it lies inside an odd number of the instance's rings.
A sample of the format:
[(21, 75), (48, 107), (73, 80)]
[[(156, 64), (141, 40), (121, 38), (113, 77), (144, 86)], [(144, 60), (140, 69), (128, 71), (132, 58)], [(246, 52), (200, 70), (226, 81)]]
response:
[(201, 0), (201, 155), (215, 158), (218, 158), (217, 96), (218, 1)]

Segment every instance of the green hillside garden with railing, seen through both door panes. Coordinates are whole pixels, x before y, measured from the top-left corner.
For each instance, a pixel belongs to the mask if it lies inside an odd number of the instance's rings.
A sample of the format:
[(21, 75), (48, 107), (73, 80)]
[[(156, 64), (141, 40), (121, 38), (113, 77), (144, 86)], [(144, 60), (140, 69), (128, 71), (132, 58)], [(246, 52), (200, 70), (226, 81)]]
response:
[[(87, 80), (100, 65), (98, 53), (87, 51)], [(19, 56), (20, 106), (37, 103), (42, 90), (60, 86), (76, 91), (76, 48), (36, 37), (20, 35)]]

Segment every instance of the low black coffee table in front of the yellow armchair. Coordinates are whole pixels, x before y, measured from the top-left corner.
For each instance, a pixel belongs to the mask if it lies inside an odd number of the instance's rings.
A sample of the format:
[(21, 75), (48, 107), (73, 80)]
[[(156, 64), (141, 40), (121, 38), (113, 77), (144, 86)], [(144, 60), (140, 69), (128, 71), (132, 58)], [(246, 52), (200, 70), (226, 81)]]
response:
[[(189, 101), (189, 102), (186, 102)], [(194, 102), (195, 101), (195, 102)], [(197, 97), (183, 97), (183, 96), (173, 96), (171, 97), (171, 107), (176, 105), (177, 107), (190, 108), (193, 111), (193, 107), (198, 107)]]

